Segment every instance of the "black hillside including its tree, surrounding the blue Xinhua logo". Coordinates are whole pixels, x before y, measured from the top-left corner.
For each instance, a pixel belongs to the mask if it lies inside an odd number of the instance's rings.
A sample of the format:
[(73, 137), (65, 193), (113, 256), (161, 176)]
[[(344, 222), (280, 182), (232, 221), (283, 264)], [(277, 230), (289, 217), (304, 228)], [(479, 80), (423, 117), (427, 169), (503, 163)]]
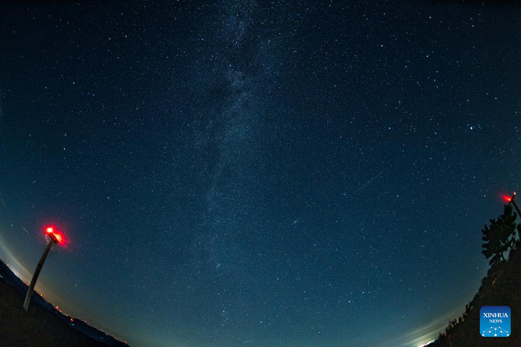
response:
[[(460, 317), (449, 322), (444, 333), (428, 347), (441, 346), (521, 346), (521, 224), (510, 205), (497, 220), (490, 220), (483, 233), (483, 254), (490, 268), (474, 298)], [(492, 338), (480, 335), (482, 306), (508, 306), (511, 309), (511, 336)]]

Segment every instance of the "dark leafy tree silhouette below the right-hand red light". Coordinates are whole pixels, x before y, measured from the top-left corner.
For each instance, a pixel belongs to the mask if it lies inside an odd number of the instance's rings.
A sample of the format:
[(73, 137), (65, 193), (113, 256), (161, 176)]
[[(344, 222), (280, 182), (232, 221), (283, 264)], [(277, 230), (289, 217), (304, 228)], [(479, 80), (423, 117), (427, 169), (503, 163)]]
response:
[(481, 230), (482, 240), (485, 241), (482, 253), (485, 258), (490, 258), (490, 265), (498, 261), (505, 261), (503, 253), (512, 250), (516, 246), (516, 214), (512, 212), (510, 204), (505, 205), (505, 210), (497, 220), (490, 220), (490, 226), (485, 225)]

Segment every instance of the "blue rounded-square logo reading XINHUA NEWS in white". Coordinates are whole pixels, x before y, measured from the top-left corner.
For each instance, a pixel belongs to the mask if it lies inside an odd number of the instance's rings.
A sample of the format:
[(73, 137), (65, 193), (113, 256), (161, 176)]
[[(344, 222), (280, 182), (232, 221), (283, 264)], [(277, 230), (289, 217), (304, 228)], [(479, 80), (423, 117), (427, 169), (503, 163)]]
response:
[(479, 333), (484, 337), (510, 336), (510, 307), (483, 306), (479, 310)]

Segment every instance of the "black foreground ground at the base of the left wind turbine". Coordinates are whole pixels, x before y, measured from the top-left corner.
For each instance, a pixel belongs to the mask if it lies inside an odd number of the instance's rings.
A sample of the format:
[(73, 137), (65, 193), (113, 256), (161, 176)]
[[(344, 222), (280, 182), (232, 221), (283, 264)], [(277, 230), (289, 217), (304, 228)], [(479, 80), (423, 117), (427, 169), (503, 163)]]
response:
[(23, 310), (23, 295), (0, 280), (1, 346), (106, 346), (72, 329), (37, 304)]

